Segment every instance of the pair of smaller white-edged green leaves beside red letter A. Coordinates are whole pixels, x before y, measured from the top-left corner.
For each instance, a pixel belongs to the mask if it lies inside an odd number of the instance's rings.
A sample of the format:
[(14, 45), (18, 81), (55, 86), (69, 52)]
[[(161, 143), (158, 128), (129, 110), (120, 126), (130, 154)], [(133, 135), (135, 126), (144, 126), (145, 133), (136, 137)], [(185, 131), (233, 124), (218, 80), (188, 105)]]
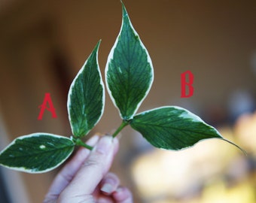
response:
[(69, 158), (75, 144), (98, 123), (105, 103), (97, 57), (99, 43), (69, 89), (67, 105), (74, 138), (44, 132), (23, 135), (0, 153), (0, 165), (28, 173), (53, 170)]

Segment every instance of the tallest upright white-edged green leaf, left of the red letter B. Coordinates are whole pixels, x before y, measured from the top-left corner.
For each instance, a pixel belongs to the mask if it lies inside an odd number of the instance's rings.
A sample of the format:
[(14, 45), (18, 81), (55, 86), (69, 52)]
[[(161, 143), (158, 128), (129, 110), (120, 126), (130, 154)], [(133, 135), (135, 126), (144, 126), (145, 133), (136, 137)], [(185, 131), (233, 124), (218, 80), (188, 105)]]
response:
[(108, 55), (105, 78), (120, 117), (130, 120), (148, 95), (154, 71), (148, 50), (133, 28), (124, 5), (122, 26)]

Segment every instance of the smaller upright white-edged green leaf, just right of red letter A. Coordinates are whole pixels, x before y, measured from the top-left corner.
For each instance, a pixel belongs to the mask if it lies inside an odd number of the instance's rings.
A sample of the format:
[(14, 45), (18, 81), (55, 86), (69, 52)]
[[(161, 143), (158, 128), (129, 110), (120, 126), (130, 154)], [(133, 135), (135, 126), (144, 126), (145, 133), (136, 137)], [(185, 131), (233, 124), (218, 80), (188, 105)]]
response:
[(105, 92), (98, 63), (99, 43), (69, 89), (69, 122), (75, 137), (87, 135), (99, 122), (104, 111)]

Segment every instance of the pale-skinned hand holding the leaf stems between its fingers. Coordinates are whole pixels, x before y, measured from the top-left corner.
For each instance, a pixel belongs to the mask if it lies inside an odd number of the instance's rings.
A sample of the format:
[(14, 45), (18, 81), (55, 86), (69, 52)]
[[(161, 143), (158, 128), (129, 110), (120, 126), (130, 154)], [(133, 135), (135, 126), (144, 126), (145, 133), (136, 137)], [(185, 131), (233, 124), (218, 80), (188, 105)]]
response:
[(119, 142), (111, 136), (93, 136), (56, 175), (44, 203), (133, 203), (129, 189), (109, 172)]

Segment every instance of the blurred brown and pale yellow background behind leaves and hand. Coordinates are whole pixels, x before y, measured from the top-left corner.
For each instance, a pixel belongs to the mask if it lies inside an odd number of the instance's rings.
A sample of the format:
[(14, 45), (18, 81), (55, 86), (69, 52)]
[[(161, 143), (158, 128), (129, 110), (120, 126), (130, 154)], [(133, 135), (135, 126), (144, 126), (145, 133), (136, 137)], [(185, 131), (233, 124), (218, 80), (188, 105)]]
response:
[[(256, 2), (126, 0), (133, 26), (154, 65), (154, 83), (139, 111), (178, 105), (215, 126), (224, 141), (157, 150), (126, 127), (111, 171), (133, 191), (135, 202), (256, 202)], [(70, 136), (69, 85), (96, 42), (102, 74), (120, 30), (118, 0), (0, 1), (0, 150), (32, 132)], [(181, 98), (181, 73), (194, 74), (194, 95)], [(50, 92), (57, 118), (45, 111)], [(105, 114), (90, 132), (120, 125), (106, 95)], [(61, 168), (61, 167), (60, 167)], [(25, 174), (0, 168), (0, 201), (41, 202), (57, 168)]]

